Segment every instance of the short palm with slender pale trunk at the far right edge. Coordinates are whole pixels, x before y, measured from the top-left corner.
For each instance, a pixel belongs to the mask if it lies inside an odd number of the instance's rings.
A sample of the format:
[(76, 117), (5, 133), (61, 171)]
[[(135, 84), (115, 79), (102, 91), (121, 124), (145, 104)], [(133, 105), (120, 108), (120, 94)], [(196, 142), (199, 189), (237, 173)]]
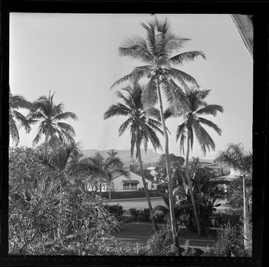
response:
[(235, 170), (240, 170), (243, 186), (244, 244), (247, 248), (249, 246), (249, 214), (245, 180), (247, 176), (252, 174), (252, 153), (246, 153), (241, 144), (229, 144), (225, 151), (219, 151), (219, 156), (214, 161), (216, 163), (226, 163)]

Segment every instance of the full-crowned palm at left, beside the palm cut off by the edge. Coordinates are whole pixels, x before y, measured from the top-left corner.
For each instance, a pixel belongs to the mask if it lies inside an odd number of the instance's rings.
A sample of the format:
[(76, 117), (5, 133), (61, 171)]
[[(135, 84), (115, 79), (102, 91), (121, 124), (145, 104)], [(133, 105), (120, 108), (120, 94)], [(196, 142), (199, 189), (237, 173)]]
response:
[(28, 118), (31, 123), (40, 122), (38, 132), (33, 144), (38, 144), (42, 135), (45, 135), (44, 158), (47, 155), (49, 140), (59, 140), (60, 142), (73, 142), (75, 130), (68, 123), (61, 122), (67, 118), (78, 119), (73, 112), (63, 112), (64, 104), (54, 104), (54, 94), (48, 97), (43, 95), (38, 98), (31, 108)]

